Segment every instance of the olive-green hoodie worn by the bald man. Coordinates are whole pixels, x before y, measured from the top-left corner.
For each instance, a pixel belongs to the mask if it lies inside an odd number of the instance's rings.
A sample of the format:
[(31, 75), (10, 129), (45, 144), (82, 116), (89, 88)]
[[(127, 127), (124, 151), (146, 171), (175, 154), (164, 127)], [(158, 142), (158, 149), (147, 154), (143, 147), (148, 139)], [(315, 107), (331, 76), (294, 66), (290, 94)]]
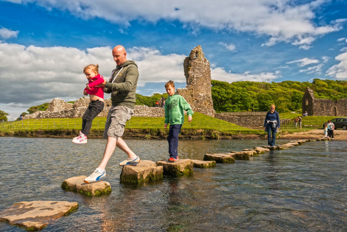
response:
[[(115, 75), (117, 76), (115, 77)], [(104, 88), (105, 93), (111, 93), (112, 106), (135, 108), (137, 80), (138, 70), (133, 60), (127, 60), (113, 69), (111, 78), (109, 82), (105, 83)]]

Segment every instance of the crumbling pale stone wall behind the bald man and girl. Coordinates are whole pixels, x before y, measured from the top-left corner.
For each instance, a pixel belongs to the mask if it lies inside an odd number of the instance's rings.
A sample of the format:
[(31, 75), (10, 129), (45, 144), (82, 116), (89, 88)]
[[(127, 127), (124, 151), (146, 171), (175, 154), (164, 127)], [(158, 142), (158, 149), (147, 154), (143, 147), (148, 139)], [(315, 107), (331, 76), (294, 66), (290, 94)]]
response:
[[(110, 99), (104, 99), (104, 109), (97, 117), (107, 117), (108, 111), (112, 106)], [(24, 119), (29, 118), (81, 118), (88, 107), (90, 100), (87, 97), (79, 98), (77, 101), (67, 103), (62, 99), (54, 98), (46, 111), (37, 111), (33, 114), (25, 115)], [(164, 108), (135, 106), (134, 117), (164, 117)]]

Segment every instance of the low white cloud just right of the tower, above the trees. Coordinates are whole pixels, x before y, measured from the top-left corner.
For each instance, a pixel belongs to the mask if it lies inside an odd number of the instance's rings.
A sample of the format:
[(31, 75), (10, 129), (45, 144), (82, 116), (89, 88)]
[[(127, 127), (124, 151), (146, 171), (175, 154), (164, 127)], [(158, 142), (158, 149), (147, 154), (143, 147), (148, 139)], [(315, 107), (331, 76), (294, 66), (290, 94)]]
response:
[(244, 73), (231, 73), (230, 71), (225, 71), (224, 68), (217, 67), (211, 69), (211, 79), (218, 81), (227, 81), (229, 83), (234, 81), (272, 81), (279, 77), (279, 71), (276, 73), (255, 73), (247, 71)]

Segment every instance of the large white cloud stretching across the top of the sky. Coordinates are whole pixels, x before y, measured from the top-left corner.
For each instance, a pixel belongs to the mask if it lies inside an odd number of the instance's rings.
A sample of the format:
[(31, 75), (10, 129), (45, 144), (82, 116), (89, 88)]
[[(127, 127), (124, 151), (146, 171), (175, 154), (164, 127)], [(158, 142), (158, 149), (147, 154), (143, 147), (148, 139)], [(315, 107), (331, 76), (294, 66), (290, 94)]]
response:
[[(177, 0), (121, 1), (103, 0), (12, 0), (16, 3), (35, 3), (48, 10), (69, 11), (84, 19), (99, 17), (122, 25), (125, 29), (133, 20), (156, 23), (159, 20), (179, 20), (185, 28), (198, 33), (200, 27), (215, 30), (237, 30), (268, 36), (270, 46), (277, 42), (292, 42), (308, 49), (318, 36), (339, 31), (346, 19), (336, 19), (319, 26), (314, 22), (315, 10), (326, 1), (316, 0), (295, 5), (290, 0)], [(296, 1), (300, 2), (300, 1)], [(121, 10), (120, 10), (121, 9)], [(123, 29), (121, 29), (123, 30)], [(124, 31), (124, 30), (123, 30)]]

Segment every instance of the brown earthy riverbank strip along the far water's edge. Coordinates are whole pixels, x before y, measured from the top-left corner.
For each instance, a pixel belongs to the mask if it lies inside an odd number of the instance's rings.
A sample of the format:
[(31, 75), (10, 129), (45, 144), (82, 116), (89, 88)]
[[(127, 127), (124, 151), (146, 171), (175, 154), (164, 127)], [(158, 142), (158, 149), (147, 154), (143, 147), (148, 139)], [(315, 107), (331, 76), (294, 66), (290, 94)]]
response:
[[(28, 137), (28, 138), (72, 138), (77, 135), (77, 129), (52, 129), (52, 130), (18, 130), (0, 132), (3, 137)], [(164, 139), (168, 130), (165, 129), (125, 129), (125, 139)], [(323, 137), (322, 129), (303, 129), (302, 131), (280, 131), (278, 139), (314, 139)], [(347, 130), (335, 130), (335, 139), (347, 140)], [(88, 138), (103, 138), (103, 130), (92, 129)], [(182, 129), (180, 139), (266, 139), (263, 130), (257, 132), (221, 132), (212, 129)]]

